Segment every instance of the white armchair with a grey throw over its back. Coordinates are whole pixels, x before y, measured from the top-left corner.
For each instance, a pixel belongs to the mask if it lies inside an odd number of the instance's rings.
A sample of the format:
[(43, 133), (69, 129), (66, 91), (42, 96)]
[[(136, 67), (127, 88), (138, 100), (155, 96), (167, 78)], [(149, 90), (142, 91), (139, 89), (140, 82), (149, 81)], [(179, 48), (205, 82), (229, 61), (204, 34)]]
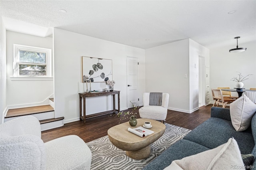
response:
[(154, 119), (164, 123), (167, 116), (167, 108), (169, 103), (169, 94), (162, 93), (162, 105), (149, 105), (150, 93), (143, 93), (143, 107), (139, 109), (140, 117)]

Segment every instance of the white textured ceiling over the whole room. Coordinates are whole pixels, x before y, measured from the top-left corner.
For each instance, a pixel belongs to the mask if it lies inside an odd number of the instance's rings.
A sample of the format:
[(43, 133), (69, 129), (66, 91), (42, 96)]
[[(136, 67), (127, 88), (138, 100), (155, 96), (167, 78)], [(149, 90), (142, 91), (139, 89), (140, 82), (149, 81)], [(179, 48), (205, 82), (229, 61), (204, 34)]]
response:
[(256, 0), (0, 0), (0, 10), (7, 30), (44, 37), (56, 27), (142, 49), (256, 40)]

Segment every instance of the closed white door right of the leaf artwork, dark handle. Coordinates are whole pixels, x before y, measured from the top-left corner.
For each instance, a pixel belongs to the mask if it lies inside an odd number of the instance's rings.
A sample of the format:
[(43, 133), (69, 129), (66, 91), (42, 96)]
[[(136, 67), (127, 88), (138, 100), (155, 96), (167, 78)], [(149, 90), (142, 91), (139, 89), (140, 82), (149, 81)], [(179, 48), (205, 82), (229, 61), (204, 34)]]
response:
[[(139, 82), (138, 58), (126, 58), (126, 77), (127, 77), (127, 108), (132, 107), (132, 103), (138, 106), (138, 82)], [(132, 103), (131, 103), (132, 102)]]

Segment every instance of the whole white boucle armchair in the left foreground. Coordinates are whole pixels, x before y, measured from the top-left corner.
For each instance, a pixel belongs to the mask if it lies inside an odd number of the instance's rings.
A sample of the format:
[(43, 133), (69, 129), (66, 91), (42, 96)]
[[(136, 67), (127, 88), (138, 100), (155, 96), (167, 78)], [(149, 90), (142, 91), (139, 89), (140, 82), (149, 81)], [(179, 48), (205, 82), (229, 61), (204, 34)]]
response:
[(90, 148), (76, 135), (44, 143), (33, 116), (0, 125), (1, 170), (90, 170), (91, 160)]

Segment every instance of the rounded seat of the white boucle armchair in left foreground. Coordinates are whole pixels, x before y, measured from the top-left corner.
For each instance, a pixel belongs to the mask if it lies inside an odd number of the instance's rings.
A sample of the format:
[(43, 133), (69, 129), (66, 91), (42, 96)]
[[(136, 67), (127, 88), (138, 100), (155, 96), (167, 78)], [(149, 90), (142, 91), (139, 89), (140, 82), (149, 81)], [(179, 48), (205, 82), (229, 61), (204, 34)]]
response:
[(92, 152), (79, 136), (57, 138), (45, 147), (47, 170), (90, 170)]

